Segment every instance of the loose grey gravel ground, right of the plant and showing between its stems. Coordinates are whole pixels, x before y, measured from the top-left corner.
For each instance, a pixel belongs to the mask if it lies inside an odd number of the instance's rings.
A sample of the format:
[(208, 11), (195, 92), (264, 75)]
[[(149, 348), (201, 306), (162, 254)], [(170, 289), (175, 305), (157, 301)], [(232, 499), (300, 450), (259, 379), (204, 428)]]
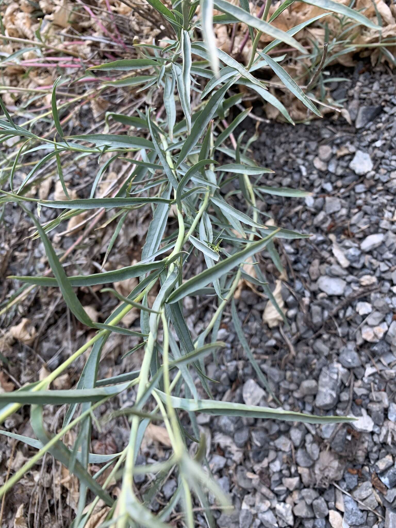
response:
[[(231, 494), (235, 507), (231, 515), (214, 510), (219, 528), (396, 527), (396, 89), (394, 77), (382, 67), (364, 71), (359, 64), (349, 75), (351, 80), (337, 84), (333, 96), (345, 99), (351, 124), (341, 117), (295, 128), (260, 124), (254, 155), (261, 165), (276, 171), (265, 184), (312, 192), (305, 200), (265, 195), (260, 209), (280, 227), (312, 236), (283, 241), (278, 248), (288, 275), (281, 294), (289, 329), (263, 324), (267, 300), (249, 288), (241, 291), (237, 307), (251, 350), (284, 409), (348, 414), (359, 420), (350, 425), (312, 426), (197, 416), (210, 446), (212, 473)], [(129, 239), (132, 234), (138, 239), (147, 223), (148, 218), (135, 220)], [(96, 241), (92, 256), (106, 250), (106, 240)], [(118, 243), (126, 243), (122, 233)], [(37, 259), (42, 256), (40, 247)], [(128, 254), (129, 260), (122, 264), (128, 265), (132, 257)], [(275, 267), (266, 254), (263, 257), (267, 278), (275, 279)], [(40, 270), (31, 260), (28, 264), (24, 273)], [(44, 363), (53, 370), (86, 339), (79, 328), (70, 331), (67, 315), (56, 304), (58, 294), (53, 294), (43, 328), (37, 318), (44, 317), (45, 298), (40, 294), (33, 299), (25, 305), (24, 315), (30, 314), (39, 327), (42, 346), (37, 348), (33, 340), (30, 348), (20, 346), (16, 351), (20, 364), (7, 372), (21, 383), (31, 381)], [(89, 293), (88, 303), (95, 304), (95, 296)], [(102, 307), (103, 312), (107, 309), (110, 306)], [(197, 334), (210, 319), (212, 308), (187, 298), (185, 313)], [(54, 328), (59, 337), (50, 340)], [(230, 311), (225, 312), (218, 338), (228, 348), (216, 362), (206, 365), (208, 376), (218, 380), (212, 384), (214, 397), (273, 405), (244, 356)], [(103, 351), (100, 378), (125, 367), (119, 357), (126, 350), (118, 336), (115, 340), (109, 340)], [(138, 367), (138, 353), (128, 361)], [(59, 388), (73, 386), (80, 367), (77, 363), (76, 371)], [(18, 368), (23, 372), (18, 373)], [(128, 369), (133, 370), (131, 364)], [(122, 397), (119, 403), (123, 406), (127, 401)], [(51, 408), (48, 413), (46, 421), (53, 424)], [(32, 436), (23, 415), (16, 416), (5, 427)], [(116, 426), (103, 426), (93, 433), (93, 450), (119, 451), (127, 435), (122, 419)], [(5, 460), (11, 445), (6, 442)], [(166, 456), (166, 450), (161, 452)], [(150, 457), (158, 458), (157, 445), (148, 446), (139, 463)], [(52, 475), (50, 468), (48, 475)], [(28, 480), (10, 503), (18, 504), (21, 497), (29, 503)], [(144, 496), (149, 480), (143, 476), (136, 484)], [(166, 504), (176, 485), (172, 476), (166, 479), (162, 500), (152, 502), (153, 510)], [(51, 495), (51, 479), (42, 486), (45, 496)], [(45, 511), (44, 499), (41, 506)], [(172, 516), (171, 521), (176, 523), (176, 518)], [(201, 513), (197, 520), (205, 525)], [(67, 518), (61, 521), (58, 526), (68, 525)]]

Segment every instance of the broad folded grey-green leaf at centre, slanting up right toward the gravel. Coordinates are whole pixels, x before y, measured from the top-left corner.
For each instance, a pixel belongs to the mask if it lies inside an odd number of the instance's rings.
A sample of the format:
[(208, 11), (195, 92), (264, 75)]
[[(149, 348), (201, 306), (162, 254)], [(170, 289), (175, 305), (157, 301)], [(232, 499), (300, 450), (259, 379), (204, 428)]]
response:
[(252, 244), (249, 244), (247, 248), (234, 253), (231, 257), (228, 257), (221, 262), (218, 262), (213, 268), (201, 271), (201, 273), (195, 277), (186, 280), (181, 286), (173, 291), (167, 302), (175, 303), (176, 301), (183, 299), (186, 295), (192, 294), (197, 289), (207, 286), (210, 282), (213, 282), (214, 279), (228, 273), (236, 266), (239, 266), (244, 260), (253, 256), (255, 253), (262, 251), (277, 233), (278, 231), (270, 233), (268, 237), (253, 242)]

